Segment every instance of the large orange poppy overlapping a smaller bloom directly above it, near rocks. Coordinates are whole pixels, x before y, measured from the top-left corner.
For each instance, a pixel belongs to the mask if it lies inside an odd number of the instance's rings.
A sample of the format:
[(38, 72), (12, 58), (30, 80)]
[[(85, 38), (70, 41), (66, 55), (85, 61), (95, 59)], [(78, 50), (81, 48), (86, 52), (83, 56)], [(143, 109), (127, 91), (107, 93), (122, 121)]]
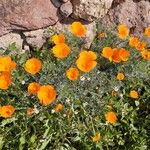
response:
[(52, 48), (53, 54), (57, 58), (66, 58), (70, 54), (70, 47), (65, 44), (57, 44)]

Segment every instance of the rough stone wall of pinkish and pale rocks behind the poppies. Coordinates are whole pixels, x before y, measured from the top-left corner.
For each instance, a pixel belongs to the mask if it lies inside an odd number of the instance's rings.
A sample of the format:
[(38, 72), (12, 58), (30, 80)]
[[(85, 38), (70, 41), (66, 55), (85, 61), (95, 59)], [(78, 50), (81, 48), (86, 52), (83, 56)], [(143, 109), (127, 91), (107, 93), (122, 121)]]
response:
[[(150, 26), (149, 0), (1, 0), (0, 47), (16, 42), (21, 49), (41, 47), (49, 27), (64, 30), (74, 20), (86, 23), (92, 40), (95, 21), (107, 27), (126, 24), (140, 35)], [(89, 41), (88, 41), (89, 42)]]

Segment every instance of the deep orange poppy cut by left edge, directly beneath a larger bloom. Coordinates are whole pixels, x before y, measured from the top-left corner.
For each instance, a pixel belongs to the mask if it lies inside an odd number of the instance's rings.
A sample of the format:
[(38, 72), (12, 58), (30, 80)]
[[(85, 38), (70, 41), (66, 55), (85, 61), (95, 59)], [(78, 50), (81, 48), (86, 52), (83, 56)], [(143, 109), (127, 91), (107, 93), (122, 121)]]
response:
[(7, 90), (11, 85), (12, 79), (9, 72), (0, 73), (0, 89)]

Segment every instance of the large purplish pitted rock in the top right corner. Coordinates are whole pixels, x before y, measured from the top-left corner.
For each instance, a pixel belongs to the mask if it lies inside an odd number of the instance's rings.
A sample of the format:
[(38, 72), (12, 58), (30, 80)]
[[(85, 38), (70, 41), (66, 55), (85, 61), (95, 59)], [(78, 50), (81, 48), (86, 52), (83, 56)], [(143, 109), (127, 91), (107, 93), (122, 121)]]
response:
[(144, 28), (150, 26), (150, 3), (144, 0), (136, 3), (126, 0), (110, 9), (102, 23), (107, 27), (123, 23), (130, 28), (131, 34), (142, 35)]

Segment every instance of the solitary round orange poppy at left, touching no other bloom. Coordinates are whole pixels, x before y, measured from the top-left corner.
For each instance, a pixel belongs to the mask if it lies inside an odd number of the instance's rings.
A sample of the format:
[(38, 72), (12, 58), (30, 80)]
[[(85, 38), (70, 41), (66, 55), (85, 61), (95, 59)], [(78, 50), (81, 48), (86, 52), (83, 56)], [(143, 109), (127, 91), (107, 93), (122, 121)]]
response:
[(37, 58), (28, 59), (25, 63), (25, 71), (34, 75), (38, 73), (42, 68), (42, 62)]

